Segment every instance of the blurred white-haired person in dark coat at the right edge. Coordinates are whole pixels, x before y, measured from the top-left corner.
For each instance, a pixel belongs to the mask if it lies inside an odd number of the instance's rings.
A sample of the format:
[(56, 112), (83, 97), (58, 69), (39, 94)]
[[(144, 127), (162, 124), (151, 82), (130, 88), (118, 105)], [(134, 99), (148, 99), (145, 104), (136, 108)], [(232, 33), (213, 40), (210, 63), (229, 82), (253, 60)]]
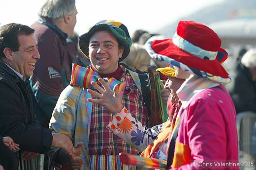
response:
[(245, 111), (256, 113), (256, 50), (242, 50), (242, 55), (231, 58), (227, 65), (233, 80), (225, 87), (232, 97), (237, 114)]

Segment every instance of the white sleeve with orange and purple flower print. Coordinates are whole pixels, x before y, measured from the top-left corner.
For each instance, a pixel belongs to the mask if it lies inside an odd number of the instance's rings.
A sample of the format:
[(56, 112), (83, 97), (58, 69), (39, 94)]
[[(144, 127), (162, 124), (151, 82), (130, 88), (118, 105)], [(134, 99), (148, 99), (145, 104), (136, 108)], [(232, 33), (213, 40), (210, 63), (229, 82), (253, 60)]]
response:
[(162, 124), (147, 128), (141, 122), (135, 120), (124, 107), (113, 116), (107, 128), (132, 147), (143, 151), (156, 139), (162, 128)]

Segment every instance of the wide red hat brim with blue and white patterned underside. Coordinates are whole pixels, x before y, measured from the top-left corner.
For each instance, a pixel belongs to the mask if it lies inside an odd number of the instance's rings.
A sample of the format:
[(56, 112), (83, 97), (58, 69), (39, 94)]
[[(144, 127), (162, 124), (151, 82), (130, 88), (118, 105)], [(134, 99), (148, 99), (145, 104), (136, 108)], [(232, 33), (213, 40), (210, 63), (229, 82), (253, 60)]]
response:
[(193, 56), (173, 44), (170, 38), (148, 42), (146, 49), (152, 58), (168, 62), (171, 66), (213, 81), (221, 83), (231, 81), (230, 76), (218, 60), (206, 60)]

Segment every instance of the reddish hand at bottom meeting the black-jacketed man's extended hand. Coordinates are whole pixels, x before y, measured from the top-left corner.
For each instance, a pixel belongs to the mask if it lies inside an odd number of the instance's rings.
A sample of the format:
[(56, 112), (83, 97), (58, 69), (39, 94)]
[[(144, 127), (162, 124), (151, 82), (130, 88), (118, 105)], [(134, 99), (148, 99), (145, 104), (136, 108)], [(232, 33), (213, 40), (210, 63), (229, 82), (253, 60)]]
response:
[(74, 150), (70, 159), (70, 166), (72, 169), (79, 169), (83, 167), (84, 160), (80, 158), (83, 147), (84, 145), (82, 142), (79, 142), (76, 146), (74, 146)]

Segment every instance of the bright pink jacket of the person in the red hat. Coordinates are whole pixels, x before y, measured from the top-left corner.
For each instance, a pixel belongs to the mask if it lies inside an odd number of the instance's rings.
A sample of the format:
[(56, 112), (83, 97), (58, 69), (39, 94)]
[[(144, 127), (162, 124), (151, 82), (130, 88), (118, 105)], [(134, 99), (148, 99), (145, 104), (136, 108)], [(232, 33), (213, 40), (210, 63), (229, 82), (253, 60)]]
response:
[(203, 90), (184, 107), (173, 170), (239, 170), (236, 112), (224, 87)]

